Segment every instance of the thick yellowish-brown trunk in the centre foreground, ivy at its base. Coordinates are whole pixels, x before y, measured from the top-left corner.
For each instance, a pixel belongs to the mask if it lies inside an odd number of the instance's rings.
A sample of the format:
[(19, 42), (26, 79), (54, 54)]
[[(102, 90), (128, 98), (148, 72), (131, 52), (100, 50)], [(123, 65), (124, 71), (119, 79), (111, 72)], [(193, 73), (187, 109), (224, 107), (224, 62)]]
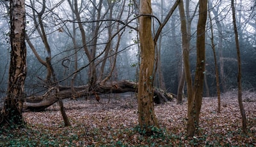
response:
[[(140, 1), (140, 14), (152, 14), (150, 0)], [(159, 127), (154, 113), (153, 101), (155, 50), (151, 31), (152, 18), (142, 16), (139, 18), (139, 23), (141, 64), (138, 85), (138, 122), (142, 130), (151, 134), (152, 127)]]

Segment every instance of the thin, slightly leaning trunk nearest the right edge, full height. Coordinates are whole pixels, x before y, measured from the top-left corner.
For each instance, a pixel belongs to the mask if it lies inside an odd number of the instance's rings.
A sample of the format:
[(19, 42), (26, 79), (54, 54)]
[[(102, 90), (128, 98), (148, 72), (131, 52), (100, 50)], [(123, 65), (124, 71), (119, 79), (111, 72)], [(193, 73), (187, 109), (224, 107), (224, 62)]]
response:
[(237, 63), (238, 63), (238, 75), (237, 75), (237, 84), (238, 84), (238, 103), (239, 109), (242, 116), (242, 129), (243, 133), (247, 134), (246, 127), (246, 113), (244, 111), (243, 101), (242, 101), (242, 86), (241, 86), (241, 57), (240, 57), (240, 48), (239, 48), (239, 40), (238, 40), (238, 32), (236, 26), (236, 10), (234, 6), (234, 0), (231, 0), (231, 8), (232, 8), (232, 18), (235, 32), (235, 40), (236, 40), (236, 51), (237, 51)]

